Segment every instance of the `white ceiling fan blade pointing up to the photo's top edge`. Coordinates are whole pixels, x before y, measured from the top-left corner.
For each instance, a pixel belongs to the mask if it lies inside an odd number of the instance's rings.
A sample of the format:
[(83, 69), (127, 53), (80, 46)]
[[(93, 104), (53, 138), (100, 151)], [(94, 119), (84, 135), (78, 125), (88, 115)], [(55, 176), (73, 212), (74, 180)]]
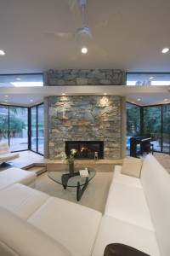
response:
[(82, 27), (82, 13), (77, 0), (66, 0), (70, 9), (73, 20), (78, 27)]

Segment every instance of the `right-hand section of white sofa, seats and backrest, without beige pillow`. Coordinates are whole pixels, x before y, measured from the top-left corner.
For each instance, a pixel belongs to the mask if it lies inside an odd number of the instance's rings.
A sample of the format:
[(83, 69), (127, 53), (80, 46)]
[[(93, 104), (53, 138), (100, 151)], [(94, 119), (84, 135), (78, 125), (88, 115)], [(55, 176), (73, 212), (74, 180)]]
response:
[(153, 256), (170, 255), (170, 175), (151, 154), (140, 178), (121, 171), (115, 167), (93, 255), (114, 242)]

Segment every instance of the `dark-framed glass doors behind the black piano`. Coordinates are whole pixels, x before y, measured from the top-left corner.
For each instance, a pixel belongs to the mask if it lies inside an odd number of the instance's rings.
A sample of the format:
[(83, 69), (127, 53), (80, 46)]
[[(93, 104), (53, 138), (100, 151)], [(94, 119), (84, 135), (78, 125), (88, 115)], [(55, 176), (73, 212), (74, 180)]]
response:
[(127, 103), (127, 149), (129, 137), (153, 137), (154, 151), (170, 154), (170, 104), (139, 107)]

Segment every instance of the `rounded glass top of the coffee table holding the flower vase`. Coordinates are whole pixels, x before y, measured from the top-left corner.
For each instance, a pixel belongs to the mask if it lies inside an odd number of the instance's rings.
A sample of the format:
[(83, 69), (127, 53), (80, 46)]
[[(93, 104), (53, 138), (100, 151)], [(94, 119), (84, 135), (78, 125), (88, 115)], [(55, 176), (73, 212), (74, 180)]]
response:
[[(84, 169), (83, 167), (81, 169)], [(96, 174), (93, 168), (88, 167), (89, 176), (80, 177), (79, 169), (75, 168), (74, 176), (69, 174), (69, 170), (57, 170), (54, 172), (48, 172), (48, 177), (53, 179), (56, 183), (65, 185), (67, 187), (83, 186), (88, 183)]]

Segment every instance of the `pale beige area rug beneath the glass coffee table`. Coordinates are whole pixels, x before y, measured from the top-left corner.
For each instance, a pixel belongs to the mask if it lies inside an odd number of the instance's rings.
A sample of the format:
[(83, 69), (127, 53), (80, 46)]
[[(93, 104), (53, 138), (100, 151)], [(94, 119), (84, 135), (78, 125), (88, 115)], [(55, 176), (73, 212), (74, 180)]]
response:
[(111, 185), (113, 172), (96, 172), (95, 177), (88, 183), (80, 201), (77, 201), (77, 188), (63, 187), (48, 177), (48, 172), (37, 177), (36, 189), (67, 201), (72, 201), (85, 207), (90, 207), (101, 213), (105, 211), (105, 203)]

